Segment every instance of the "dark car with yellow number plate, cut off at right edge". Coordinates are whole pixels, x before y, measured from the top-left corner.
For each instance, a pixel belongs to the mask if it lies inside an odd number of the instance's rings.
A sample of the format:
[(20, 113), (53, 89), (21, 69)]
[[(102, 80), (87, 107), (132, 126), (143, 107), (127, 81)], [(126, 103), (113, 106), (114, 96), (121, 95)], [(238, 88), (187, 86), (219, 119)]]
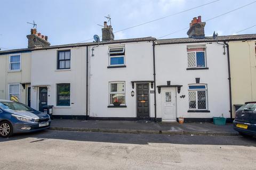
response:
[(236, 111), (233, 126), (243, 136), (256, 136), (256, 101), (247, 102)]

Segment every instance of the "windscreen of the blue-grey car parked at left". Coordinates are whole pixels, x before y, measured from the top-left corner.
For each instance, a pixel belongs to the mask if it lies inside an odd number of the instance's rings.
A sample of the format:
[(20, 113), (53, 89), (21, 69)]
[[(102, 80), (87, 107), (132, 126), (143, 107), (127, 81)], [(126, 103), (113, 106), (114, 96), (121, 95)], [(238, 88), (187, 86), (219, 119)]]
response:
[(34, 111), (33, 108), (30, 108), (21, 103), (16, 103), (16, 102), (11, 102), (11, 101), (0, 102), (0, 107), (3, 109), (11, 109), (13, 111)]

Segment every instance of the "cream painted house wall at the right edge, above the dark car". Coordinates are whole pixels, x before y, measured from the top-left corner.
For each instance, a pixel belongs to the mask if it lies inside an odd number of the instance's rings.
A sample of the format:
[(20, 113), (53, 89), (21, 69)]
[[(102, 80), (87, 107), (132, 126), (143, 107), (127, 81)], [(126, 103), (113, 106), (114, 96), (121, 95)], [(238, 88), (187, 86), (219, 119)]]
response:
[(230, 41), (228, 44), (234, 117), (234, 104), (256, 101), (255, 40)]

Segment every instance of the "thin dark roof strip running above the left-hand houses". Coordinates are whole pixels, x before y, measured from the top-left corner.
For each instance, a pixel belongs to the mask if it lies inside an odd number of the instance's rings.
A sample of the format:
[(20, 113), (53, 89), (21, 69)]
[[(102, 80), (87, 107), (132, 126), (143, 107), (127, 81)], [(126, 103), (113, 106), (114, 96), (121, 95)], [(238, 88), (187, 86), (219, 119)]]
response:
[(119, 40), (111, 40), (111, 41), (100, 41), (100, 43), (75, 43), (75, 44), (64, 44), (64, 45), (56, 45), (49, 47), (38, 47), (38, 48), (21, 48), (21, 49), (11, 49), (0, 51), (0, 55), (11, 54), (11, 53), (22, 53), (22, 52), (31, 52), (33, 50), (41, 50), (41, 49), (52, 49), (52, 48), (68, 48), (68, 47), (81, 47), (81, 46), (91, 46), (91, 45), (103, 45), (103, 44), (116, 44), (116, 43), (132, 43), (139, 41), (153, 41), (156, 40), (154, 37), (143, 37), (143, 38), (131, 38), (131, 39), (119, 39)]

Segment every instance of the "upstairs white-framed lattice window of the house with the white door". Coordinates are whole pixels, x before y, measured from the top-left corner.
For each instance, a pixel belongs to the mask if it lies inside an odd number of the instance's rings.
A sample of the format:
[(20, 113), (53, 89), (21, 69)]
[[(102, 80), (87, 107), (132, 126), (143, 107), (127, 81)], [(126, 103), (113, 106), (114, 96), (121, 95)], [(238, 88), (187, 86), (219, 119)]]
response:
[(188, 67), (206, 67), (205, 47), (187, 48)]

